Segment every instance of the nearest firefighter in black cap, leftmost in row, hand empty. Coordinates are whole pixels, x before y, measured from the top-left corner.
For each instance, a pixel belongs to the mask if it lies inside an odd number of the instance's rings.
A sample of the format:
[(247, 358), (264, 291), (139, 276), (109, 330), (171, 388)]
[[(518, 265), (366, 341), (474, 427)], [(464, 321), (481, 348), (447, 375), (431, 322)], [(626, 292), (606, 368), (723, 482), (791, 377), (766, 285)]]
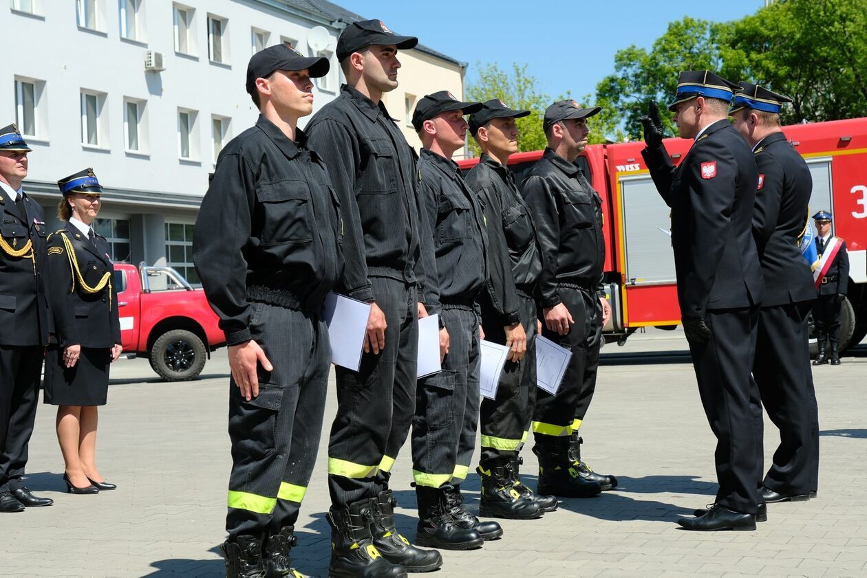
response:
[(196, 221), (193, 261), (231, 368), (226, 576), (300, 576), (290, 549), (331, 362), (322, 309), (343, 260), (339, 203), (297, 120), (328, 70), (287, 44), (253, 55), (261, 114), (220, 153)]

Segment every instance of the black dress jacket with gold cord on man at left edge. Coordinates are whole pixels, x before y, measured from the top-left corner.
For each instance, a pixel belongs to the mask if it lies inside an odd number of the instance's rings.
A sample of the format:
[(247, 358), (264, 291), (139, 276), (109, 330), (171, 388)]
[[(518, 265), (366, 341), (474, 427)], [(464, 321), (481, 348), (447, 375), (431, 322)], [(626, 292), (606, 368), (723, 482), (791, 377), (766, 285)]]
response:
[(12, 257), (0, 247), (0, 345), (49, 343), (53, 329), (49, 319), (49, 298), (45, 293), (48, 264), (45, 253), (45, 219), (42, 207), (27, 195), (20, 211), (0, 188), (0, 235), (13, 252), (32, 243), (36, 272), (29, 258)]

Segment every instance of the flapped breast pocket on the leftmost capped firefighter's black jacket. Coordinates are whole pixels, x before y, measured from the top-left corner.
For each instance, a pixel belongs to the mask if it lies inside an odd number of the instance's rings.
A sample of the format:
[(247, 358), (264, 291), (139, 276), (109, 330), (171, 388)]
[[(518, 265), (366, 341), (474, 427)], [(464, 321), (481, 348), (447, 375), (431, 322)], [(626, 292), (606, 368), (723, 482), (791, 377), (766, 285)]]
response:
[(257, 186), (256, 219), (264, 246), (308, 243), (313, 238), (310, 187), (302, 180), (281, 180)]

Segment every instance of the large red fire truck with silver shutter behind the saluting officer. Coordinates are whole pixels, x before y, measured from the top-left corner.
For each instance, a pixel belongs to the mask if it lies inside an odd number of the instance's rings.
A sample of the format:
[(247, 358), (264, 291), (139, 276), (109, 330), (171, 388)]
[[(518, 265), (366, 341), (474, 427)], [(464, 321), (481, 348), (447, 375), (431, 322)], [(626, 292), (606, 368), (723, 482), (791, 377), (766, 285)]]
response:
[[(810, 214), (833, 214), (833, 234), (846, 241), (851, 263), (841, 315), (841, 348), (867, 334), (867, 118), (784, 127), (812, 173)], [(692, 140), (667, 139), (675, 164)], [(576, 160), (603, 199), (606, 240), (604, 282), (610, 296), (608, 339), (620, 344), (637, 328), (675, 328), (680, 308), (675, 290), (671, 222), (642, 159), (644, 143), (591, 145)], [(520, 183), (542, 151), (513, 154), (509, 165)], [(461, 160), (469, 170), (478, 159)]]

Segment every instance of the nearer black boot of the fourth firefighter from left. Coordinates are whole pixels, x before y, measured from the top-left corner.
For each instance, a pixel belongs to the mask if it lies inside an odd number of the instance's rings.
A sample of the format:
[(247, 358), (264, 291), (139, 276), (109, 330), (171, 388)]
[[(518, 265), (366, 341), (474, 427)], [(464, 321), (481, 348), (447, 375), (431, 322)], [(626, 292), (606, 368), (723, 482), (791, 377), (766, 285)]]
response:
[(512, 481), (512, 465), (508, 458), (489, 460), (476, 468), (482, 478), (479, 515), (513, 520), (542, 517), (542, 510), (531, 497), (525, 497)]

